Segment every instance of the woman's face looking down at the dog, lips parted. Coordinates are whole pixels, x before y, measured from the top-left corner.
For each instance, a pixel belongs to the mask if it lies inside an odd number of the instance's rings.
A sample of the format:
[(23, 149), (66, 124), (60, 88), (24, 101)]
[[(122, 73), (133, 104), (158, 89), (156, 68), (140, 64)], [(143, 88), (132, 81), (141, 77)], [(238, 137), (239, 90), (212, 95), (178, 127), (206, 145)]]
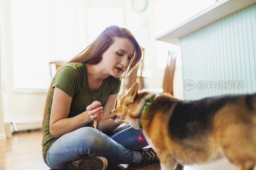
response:
[(131, 63), (134, 51), (135, 45), (131, 40), (114, 37), (114, 43), (101, 55), (106, 73), (120, 77)]

